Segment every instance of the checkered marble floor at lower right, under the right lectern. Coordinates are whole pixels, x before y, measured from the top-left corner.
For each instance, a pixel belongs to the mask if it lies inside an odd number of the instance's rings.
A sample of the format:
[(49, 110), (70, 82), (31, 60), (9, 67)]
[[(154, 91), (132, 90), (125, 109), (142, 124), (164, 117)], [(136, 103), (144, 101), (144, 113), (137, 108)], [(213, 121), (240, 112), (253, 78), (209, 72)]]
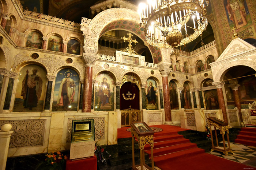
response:
[[(223, 146), (223, 142), (219, 142), (219, 143), (220, 145)], [(227, 146), (226, 141), (225, 143)], [(207, 153), (256, 168), (256, 147), (255, 146), (247, 146), (247, 145), (242, 145), (240, 143), (230, 142), (230, 148), (232, 149), (234, 154), (229, 152), (228, 155), (225, 156), (222, 152), (219, 152), (219, 151), (212, 151)]]

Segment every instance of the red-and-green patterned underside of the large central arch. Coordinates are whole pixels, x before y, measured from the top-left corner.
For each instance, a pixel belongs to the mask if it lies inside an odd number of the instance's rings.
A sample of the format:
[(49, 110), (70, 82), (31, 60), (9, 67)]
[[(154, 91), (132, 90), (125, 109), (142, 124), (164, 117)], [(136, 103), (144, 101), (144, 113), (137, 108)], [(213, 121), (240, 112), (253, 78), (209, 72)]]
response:
[[(145, 40), (144, 29), (140, 28), (139, 24), (136, 24), (132, 21), (127, 21), (127, 20), (114, 21), (108, 24), (105, 28), (103, 28), (99, 37), (101, 37), (105, 32), (108, 32), (113, 29), (125, 29), (127, 31), (131, 31), (132, 33), (135, 33), (137, 36), (139, 36), (141, 39)], [(153, 55), (154, 63), (161, 62), (162, 54), (161, 54), (160, 48), (153, 47), (153, 46), (148, 46), (148, 48), (150, 49)]]

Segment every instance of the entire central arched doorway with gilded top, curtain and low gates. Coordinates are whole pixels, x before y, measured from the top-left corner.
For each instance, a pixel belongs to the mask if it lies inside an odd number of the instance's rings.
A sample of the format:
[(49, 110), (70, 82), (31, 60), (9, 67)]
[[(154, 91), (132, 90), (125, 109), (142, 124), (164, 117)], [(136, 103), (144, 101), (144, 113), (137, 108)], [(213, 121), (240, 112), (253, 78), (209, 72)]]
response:
[(121, 127), (141, 121), (139, 81), (133, 75), (125, 75), (120, 88)]

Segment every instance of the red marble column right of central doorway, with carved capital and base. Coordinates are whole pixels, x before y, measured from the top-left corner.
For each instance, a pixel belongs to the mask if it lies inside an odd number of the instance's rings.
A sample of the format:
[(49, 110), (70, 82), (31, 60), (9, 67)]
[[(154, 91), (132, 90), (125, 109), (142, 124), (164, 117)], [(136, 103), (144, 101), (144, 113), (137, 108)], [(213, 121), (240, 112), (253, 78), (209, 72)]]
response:
[(165, 124), (173, 124), (171, 115), (171, 105), (170, 105), (170, 94), (169, 94), (169, 84), (168, 84), (168, 73), (170, 71), (167, 68), (161, 68), (160, 73), (162, 75), (163, 83), (163, 103), (165, 109)]

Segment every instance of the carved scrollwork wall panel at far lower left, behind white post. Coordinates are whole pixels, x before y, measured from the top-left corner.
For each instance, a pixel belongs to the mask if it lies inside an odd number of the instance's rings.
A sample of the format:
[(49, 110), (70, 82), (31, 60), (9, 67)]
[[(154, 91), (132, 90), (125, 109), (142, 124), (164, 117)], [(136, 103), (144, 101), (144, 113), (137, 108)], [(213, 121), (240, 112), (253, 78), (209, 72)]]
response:
[(46, 119), (40, 120), (1, 120), (3, 124), (10, 123), (14, 133), (11, 135), (9, 148), (27, 146), (44, 146)]

